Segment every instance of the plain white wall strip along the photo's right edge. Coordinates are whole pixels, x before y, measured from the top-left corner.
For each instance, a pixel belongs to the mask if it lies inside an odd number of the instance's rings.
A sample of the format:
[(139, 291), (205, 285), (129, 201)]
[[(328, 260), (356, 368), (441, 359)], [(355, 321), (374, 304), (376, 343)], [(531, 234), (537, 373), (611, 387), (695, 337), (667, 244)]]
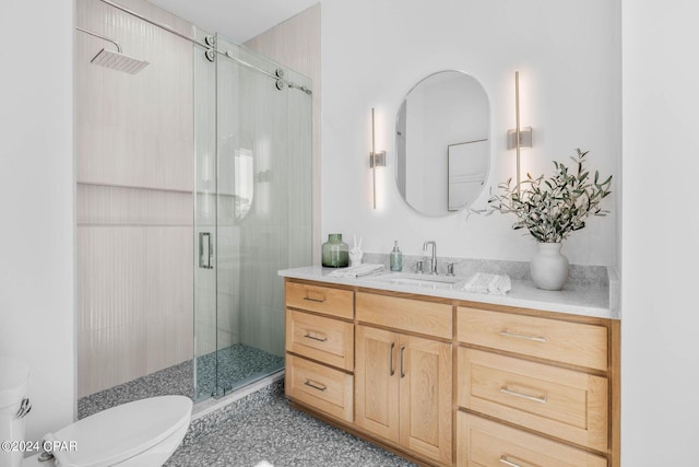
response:
[(696, 465), (699, 4), (624, 0), (621, 458)]

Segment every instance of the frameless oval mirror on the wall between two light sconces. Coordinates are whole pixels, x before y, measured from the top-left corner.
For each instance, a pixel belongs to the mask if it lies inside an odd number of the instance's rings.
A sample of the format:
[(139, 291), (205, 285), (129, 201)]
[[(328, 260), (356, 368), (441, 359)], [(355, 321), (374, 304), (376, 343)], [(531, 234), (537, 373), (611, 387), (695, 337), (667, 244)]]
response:
[(461, 71), (440, 71), (407, 93), (395, 120), (395, 183), (427, 215), (461, 211), (481, 194), (490, 159), (488, 96)]

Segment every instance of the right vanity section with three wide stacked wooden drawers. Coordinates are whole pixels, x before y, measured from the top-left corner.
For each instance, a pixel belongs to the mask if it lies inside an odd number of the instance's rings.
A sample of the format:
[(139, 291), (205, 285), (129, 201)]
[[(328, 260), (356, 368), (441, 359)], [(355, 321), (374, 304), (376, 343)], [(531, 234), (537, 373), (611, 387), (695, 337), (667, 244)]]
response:
[(459, 466), (619, 465), (613, 322), (459, 306), (457, 340)]

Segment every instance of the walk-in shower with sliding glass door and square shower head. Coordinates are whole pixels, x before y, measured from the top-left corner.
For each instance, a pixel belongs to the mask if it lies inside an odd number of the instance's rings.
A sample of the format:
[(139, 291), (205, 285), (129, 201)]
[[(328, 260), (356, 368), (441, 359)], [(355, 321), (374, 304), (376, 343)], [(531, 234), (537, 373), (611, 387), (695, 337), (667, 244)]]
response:
[(283, 370), (276, 272), (311, 262), (310, 80), (125, 4), (76, 1), (81, 418)]

